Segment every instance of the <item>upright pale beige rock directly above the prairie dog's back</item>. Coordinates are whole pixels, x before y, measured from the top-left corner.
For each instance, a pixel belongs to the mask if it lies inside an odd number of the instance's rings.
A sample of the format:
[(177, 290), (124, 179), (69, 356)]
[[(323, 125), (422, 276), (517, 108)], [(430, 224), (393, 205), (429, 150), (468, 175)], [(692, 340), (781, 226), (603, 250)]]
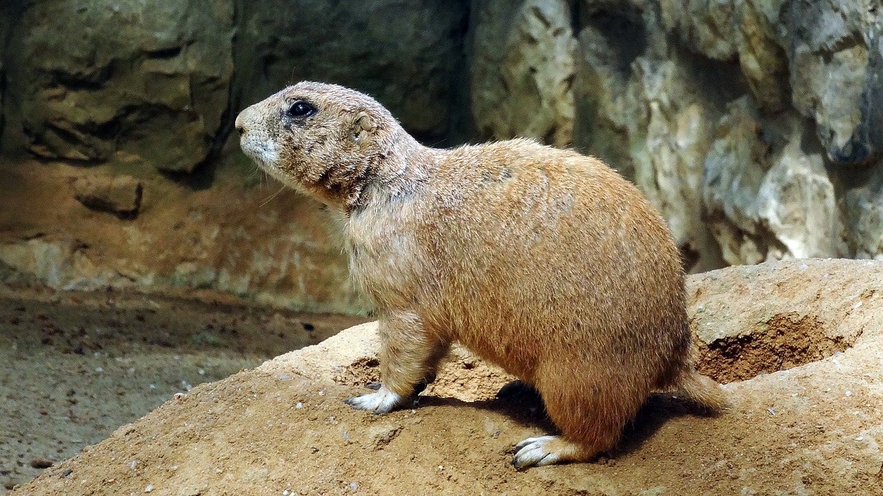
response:
[(472, 115), (483, 139), (573, 139), (576, 41), (564, 0), (474, 4)]

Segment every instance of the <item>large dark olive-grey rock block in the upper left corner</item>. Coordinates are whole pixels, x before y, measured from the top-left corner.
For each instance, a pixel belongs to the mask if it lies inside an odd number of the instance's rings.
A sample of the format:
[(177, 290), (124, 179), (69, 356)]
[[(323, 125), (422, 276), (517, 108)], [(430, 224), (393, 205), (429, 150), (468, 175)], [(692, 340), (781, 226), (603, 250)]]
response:
[(13, 140), (47, 159), (191, 172), (228, 109), (232, 0), (47, 0), (12, 29)]

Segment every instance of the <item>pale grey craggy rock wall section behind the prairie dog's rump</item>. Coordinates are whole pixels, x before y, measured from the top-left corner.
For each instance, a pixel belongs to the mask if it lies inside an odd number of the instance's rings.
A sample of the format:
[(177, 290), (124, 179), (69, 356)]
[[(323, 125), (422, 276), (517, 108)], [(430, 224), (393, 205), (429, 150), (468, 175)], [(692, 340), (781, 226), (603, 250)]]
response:
[(627, 164), (698, 267), (719, 250), (728, 264), (883, 256), (873, 2), (576, 8), (577, 122), (592, 124), (575, 143)]

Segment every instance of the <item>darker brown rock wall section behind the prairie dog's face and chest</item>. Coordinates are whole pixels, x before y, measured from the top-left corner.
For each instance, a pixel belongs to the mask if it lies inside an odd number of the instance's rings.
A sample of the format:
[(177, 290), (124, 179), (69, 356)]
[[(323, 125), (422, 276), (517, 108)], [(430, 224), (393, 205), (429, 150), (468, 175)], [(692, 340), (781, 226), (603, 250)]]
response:
[(291, 81), (320, 79), (374, 94), (426, 142), (462, 142), (467, 7), (0, 4), (0, 277), (357, 312), (328, 218), (266, 184), (232, 120)]

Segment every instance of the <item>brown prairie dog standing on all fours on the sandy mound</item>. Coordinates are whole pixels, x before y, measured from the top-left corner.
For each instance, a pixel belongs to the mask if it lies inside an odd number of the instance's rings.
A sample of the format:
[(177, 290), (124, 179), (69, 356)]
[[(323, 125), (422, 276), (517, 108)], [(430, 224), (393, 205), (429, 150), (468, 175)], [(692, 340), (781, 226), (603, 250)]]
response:
[(726, 408), (691, 358), (683, 269), (665, 222), (592, 157), (513, 139), (424, 147), (371, 97), (302, 82), (236, 119), (245, 154), (343, 215), (351, 274), (376, 304), (385, 413), (451, 342), (543, 398), (561, 436), (519, 467), (613, 447), (654, 390)]

